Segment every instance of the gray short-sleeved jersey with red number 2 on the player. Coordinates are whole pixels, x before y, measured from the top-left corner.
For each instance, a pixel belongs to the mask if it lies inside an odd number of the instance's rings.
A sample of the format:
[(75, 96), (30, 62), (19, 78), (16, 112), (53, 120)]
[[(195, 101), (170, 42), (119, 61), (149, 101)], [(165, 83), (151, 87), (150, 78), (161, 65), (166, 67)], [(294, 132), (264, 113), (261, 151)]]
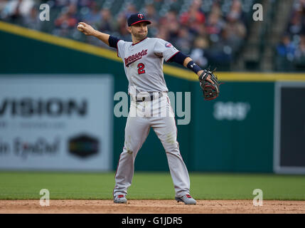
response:
[[(163, 63), (179, 51), (161, 38), (144, 38), (138, 43), (119, 40), (117, 56), (124, 61), (129, 81), (129, 95), (139, 92), (168, 92), (164, 80)], [(136, 88), (133, 92), (130, 88)]]

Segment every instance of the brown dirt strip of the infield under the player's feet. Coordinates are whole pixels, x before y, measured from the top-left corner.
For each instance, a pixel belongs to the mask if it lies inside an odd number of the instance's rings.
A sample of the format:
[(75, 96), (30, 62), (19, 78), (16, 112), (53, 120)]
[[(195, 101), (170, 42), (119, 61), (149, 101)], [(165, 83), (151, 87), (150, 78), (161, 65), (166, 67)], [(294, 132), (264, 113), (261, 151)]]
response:
[(50, 206), (41, 207), (39, 200), (0, 200), (1, 214), (305, 214), (305, 201), (264, 200), (253, 206), (252, 200), (197, 200), (185, 205), (175, 200), (129, 200), (114, 204), (112, 200), (50, 199)]

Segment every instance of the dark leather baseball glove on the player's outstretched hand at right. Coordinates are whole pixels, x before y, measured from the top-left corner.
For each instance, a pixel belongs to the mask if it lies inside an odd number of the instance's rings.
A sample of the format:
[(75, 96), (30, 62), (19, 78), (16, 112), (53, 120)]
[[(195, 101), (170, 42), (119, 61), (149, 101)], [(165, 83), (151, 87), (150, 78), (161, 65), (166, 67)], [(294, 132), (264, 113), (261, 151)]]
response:
[[(214, 70), (215, 71), (215, 70)], [(205, 100), (213, 100), (218, 97), (219, 95), (219, 81), (217, 76), (215, 76), (214, 71), (203, 70), (203, 73), (199, 76), (199, 83), (200, 87), (203, 90), (203, 96)], [(207, 81), (206, 78), (210, 76), (210, 80), (213, 81), (213, 83), (210, 83), (210, 81)]]

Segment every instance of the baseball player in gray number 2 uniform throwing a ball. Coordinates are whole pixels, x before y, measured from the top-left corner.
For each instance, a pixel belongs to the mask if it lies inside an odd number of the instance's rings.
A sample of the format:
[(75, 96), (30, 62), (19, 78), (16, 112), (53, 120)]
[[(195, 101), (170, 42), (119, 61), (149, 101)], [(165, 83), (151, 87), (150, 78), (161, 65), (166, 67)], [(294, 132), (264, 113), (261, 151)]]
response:
[[(151, 21), (147, 20), (144, 14), (132, 14), (127, 23), (132, 42), (97, 31), (83, 22), (77, 26), (85, 35), (95, 36), (110, 47), (117, 48), (117, 56), (123, 60), (124, 71), (129, 81), (128, 93), (132, 97), (132, 102), (125, 127), (124, 147), (115, 175), (114, 203), (127, 202), (127, 189), (132, 184), (134, 176), (134, 160), (149, 135), (150, 128), (153, 128), (166, 151), (176, 192), (175, 199), (185, 204), (196, 204), (196, 200), (190, 195), (188, 170), (176, 140), (176, 122), (167, 95), (163, 63), (164, 60), (180, 63), (198, 76), (203, 76), (203, 70), (171, 43), (161, 38), (147, 37), (147, 25), (151, 24)], [(207, 74), (205, 80), (213, 84)], [(137, 110), (137, 115), (131, 115), (132, 109)], [(151, 115), (158, 114), (160, 110), (166, 110), (170, 115)]]

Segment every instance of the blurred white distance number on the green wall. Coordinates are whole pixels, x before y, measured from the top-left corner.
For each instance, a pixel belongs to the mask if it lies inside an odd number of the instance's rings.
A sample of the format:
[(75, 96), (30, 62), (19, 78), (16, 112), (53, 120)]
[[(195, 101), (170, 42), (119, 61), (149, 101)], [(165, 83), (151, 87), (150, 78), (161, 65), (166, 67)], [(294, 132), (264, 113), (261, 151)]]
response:
[(217, 102), (214, 105), (216, 120), (245, 120), (250, 111), (250, 103), (245, 102)]

